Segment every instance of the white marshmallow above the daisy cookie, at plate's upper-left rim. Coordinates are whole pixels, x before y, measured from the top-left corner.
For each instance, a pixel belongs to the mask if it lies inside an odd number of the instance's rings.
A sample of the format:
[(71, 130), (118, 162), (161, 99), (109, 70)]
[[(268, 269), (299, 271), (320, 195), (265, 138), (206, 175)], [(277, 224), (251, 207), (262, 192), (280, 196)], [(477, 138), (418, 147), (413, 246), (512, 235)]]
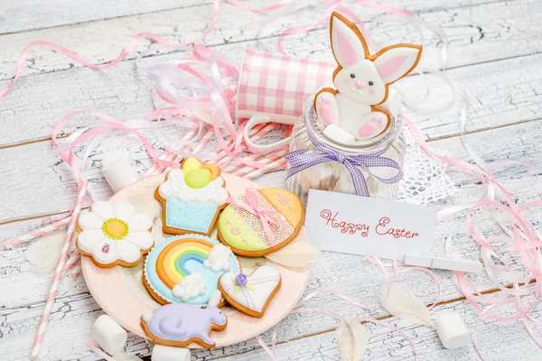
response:
[(130, 165), (127, 152), (109, 152), (104, 154), (102, 174), (113, 191), (121, 190), (137, 180)]

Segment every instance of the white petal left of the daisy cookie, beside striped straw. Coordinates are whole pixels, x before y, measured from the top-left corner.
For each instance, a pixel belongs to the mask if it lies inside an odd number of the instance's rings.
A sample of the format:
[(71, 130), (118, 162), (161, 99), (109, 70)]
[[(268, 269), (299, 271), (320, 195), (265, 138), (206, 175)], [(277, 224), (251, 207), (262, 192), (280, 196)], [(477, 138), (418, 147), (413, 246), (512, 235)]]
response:
[[(38, 238), (26, 251), (26, 259), (33, 265), (33, 272), (46, 273), (56, 267), (61, 255), (62, 245), (66, 230), (53, 232), (47, 236)], [(75, 245), (70, 245), (70, 251), (75, 249)]]

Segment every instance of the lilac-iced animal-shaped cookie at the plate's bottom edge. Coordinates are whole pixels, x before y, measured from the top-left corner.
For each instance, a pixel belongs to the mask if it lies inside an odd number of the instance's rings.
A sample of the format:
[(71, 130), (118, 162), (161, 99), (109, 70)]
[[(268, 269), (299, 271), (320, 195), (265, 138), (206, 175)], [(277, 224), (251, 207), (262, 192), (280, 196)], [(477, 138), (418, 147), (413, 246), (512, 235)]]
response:
[(205, 348), (215, 347), (210, 332), (226, 329), (227, 325), (228, 317), (211, 304), (200, 308), (172, 303), (141, 317), (141, 326), (149, 338), (157, 344), (172, 347), (188, 347), (192, 342)]

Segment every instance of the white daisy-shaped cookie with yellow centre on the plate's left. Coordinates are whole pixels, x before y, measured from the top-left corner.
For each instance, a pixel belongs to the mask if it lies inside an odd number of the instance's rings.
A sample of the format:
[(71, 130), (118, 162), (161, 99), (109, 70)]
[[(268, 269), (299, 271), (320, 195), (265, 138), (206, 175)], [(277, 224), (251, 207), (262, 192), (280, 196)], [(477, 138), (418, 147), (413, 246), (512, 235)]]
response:
[(79, 215), (77, 247), (99, 267), (134, 266), (154, 245), (153, 219), (129, 202), (97, 201)]

